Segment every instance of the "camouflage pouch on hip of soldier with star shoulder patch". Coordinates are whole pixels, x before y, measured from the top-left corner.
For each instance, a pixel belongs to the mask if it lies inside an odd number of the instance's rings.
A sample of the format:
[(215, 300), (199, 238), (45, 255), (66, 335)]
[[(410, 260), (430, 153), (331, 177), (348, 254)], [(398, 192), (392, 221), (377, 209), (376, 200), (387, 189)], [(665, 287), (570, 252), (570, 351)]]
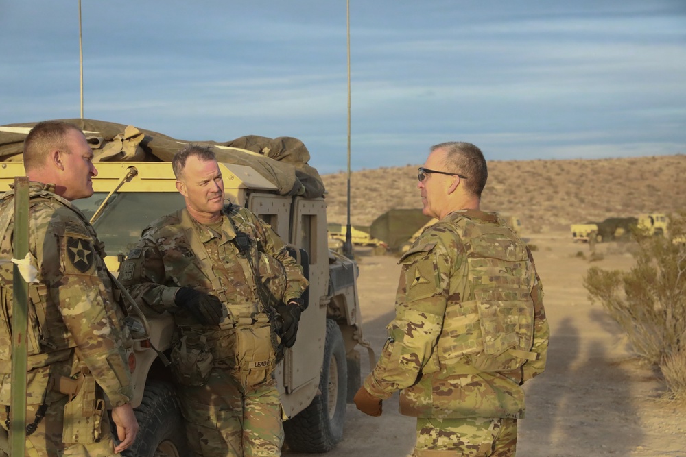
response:
[[(60, 384), (61, 380), (64, 381)], [(90, 371), (82, 369), (75, 380), (60, 377), (55, 388), (69, 395), (69, 401), (64, 405), (62, 441), (70, 444), (100, 441), (105, 401)]]

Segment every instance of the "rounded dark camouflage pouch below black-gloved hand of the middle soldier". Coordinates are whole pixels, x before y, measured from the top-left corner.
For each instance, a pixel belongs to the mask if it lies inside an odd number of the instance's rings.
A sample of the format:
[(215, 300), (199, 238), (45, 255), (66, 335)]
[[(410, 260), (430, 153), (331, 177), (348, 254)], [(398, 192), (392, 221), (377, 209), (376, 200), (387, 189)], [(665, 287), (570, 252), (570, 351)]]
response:
[(171, 349), (171, 373), (182, 386), (202, 386), (209, 379), (213, 356), (204, 335), (185, 331)]

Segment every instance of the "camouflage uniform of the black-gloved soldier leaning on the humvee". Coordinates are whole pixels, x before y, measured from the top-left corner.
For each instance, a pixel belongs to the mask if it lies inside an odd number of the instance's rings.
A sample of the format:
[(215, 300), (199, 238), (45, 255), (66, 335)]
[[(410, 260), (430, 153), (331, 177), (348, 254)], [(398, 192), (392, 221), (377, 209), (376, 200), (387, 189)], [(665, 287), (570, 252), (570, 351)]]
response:
[[(228, 214), (215, 227), (198, 223), (185, 209), (158, 219), (143, 230), (119, 279), (144, 310), (157, 314), (174, 306), (181, 286), (219, 297), (225, 306), (219, 328), (175, 312), (176, 340), (200, 341), (201, 354), (211, 354), (202, 385), (178, 389), (190, 445), (197, 456), (277, 456), (283, 425), (274, 379), (276, 334), (258, 299), (253, 267), (233, 243), (235, 230), (250, 236), (250, 258), (274, 296), (298, 298), (307, 280), (269, 225), (239, 206), (230, 206)], [(262, 323), (241, 327), (250, 316)]]

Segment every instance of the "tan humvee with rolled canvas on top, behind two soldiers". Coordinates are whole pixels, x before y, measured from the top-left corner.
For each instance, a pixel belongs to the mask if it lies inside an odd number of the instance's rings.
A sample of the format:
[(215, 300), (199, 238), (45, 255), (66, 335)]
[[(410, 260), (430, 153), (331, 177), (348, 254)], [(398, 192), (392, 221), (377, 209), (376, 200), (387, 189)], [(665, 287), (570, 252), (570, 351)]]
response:
[[(288, 417), (284, 428), (289, 448), (327, 452), (342, 439), (346, 402), (352, 401), (359, 388), (357, 346), (366, 347), (370, 362), (375, 360), (362, 336), (357, 265), (329, 251), (322, 196), (311, 197), (302, 191), (299, 195), (283, 195), (281, 182), (274, 184), (272, 176), (265, 177), (268, 173), (261, 163), (271, 159), (240, 148), (217, 147), (226, 198), (250, 208), (268, 222), (289, 243), (309, 279), (303, 297), (309, 307), (301, 318), (296, 344), (287, 349), (276, 369), (276, 378), (283, 412)], [(241, 158), (235, 161), (242, 164), (224, 162), (233, 160), (222, 155), (229, 149)], [(255, 166), (250, 166), (252, 161)], [(169, 162), (97, 162), (96, 166), (95, 193), (74, 203), (93, 221), (106, 246), (108, 269), (117, 272), (143, 227), (182, 208), (184, 201), (176, 190)], [(0, 162), (0, 190), (8, 189), (14, 176), (24, 174), (21, 162)], [(156, 352), (168, 354), (173, 319), (169, 315), (145, 318), (135, 309), (129, 313), (134, 321), (132, 330), (137, 334), (132, 351), (133, 403), (141, 430), (134, 447), (124, 455), (185, 456), (187, 443), (171, 374), (164, 358)]]

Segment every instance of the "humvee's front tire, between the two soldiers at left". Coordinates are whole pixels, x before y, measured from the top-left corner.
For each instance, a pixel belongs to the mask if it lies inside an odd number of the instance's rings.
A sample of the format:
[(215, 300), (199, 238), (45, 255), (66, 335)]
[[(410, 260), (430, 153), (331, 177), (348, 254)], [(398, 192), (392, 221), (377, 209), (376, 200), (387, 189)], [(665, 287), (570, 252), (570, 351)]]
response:
[(174, 386), (168, 382), (148, 381), (143, 401), (134, 409), (134, 414), (139, 432), (132, 447), (121, 453), (123, 457), (189, 455), (186, 430)]

